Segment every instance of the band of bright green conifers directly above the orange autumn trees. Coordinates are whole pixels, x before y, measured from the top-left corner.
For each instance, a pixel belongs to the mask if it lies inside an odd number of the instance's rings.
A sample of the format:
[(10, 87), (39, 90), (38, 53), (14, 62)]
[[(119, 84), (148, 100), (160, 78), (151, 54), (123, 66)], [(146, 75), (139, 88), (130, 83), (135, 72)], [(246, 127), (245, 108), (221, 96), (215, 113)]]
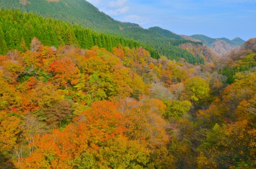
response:
[(118, 36), (95, 33), (90, 29), (77, 25), (70, 25), (52, 18), (38, 17), (32, 13), (21, 13), (16, 10), (1, 10), (0, 24), (0, 54), (8, 50), (25, 51), (33, 37), (37, 37), (42, 44), (59, 47), (59, 45), (73, 45), (80, 48), (98, 46), (111, 52), (119, 43), (125, 47), (145, 47), (151, 57), (158, 59), (158, 52), (134, 40), (127, 40)]

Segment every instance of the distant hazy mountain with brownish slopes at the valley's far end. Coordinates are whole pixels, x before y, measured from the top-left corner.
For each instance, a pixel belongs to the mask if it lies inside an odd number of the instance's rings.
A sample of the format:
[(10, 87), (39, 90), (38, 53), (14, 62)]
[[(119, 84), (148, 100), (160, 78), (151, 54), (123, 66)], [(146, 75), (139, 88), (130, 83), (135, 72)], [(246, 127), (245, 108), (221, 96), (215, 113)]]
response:
[(205, 45), (212, 48), (214, 52), (220, 55), (225, 55), (232, 50), (236, 50), (236, 48), (239, 48), (245, 42), (241, 38), (228, 40), (227, 38), (209, 38), (202, 34), (195, 34), (190, 37), (202, 41)]

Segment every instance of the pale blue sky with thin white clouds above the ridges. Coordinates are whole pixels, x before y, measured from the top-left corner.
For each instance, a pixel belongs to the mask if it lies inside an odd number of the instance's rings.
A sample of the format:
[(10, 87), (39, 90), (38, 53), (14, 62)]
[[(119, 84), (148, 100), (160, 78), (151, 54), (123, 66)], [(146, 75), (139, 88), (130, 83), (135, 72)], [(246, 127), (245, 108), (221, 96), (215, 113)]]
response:
[(256, 0), (86, 0), (115, 20), (211, 38), (256, 38)]

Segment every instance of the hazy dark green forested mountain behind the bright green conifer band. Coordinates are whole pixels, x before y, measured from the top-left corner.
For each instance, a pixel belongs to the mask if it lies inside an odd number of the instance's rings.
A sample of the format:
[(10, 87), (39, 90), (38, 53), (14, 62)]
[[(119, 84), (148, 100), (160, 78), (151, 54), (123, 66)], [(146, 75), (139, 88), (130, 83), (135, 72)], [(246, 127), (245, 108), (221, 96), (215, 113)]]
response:
[(202, 57), (196, 57), (188, 51), (179, 48), (182, 43), (200, 43), (189, 40), (173, 40), (162, 36), (155, 31), (141, 28), (138, 24), (119, 22), (99, 11), (95, 6), (84, 0), (1, 0), (3, 8), (18, 9), (22, 12), (31, 12), (42, 17), (61, 19), (70, 24), (88, 27), (99, 33), (107, 33), (139, 41), (156, 48), (157, 52), (168, 59), (179, 61), (181, 57), (189, 63), (204, 63)]

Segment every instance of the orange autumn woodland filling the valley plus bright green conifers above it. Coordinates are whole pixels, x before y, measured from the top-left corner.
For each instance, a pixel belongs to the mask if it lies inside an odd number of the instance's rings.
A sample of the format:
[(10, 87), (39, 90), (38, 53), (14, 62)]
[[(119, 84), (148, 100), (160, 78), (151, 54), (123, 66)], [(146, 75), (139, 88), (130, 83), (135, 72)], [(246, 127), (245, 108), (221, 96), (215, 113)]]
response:
[(191, 64), (60, 20), (1, 16), (0, 168), (256, 168), (256, 39), (227, 57), (177, 44), (204, 59)]

